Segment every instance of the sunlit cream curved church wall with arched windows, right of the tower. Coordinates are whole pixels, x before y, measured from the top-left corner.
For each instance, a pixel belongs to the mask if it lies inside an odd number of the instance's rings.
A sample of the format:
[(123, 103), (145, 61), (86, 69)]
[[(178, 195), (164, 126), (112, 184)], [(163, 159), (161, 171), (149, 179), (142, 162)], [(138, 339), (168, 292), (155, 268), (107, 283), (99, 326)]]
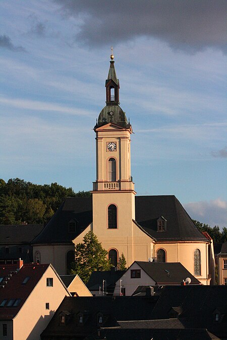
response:
[(154, 246), (155, 257), (158, 249), (164, 249), (166, 262), (181, 262), (194, 275), (194, 251), (200, 250), (201, 275), (195, 276), (203, 285), (209, 285), (208, 279), (208, 243), (207, 242), (158, 242)]

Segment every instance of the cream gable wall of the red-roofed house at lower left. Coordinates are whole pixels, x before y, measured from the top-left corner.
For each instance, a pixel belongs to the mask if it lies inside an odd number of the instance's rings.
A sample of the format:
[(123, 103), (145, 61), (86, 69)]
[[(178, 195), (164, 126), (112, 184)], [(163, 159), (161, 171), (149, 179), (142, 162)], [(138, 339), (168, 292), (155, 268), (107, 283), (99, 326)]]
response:
[[(53, 287), (46, 286), (46, 278), (53, 278)], [(14, 318), (14, 340), (39, 340), (40, 333), (65, 296), (70, 294), (49, 266)], [(49, 303), (49, 309), (45, 308), (46, 302)]]

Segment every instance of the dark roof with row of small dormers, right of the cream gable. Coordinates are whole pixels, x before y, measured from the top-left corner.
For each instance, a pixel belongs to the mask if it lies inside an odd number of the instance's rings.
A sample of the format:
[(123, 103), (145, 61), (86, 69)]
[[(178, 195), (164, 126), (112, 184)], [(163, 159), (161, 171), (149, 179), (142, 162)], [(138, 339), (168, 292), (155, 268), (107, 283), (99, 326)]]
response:
[[(85, 336), (92, 334), (100, 325), (97, 324), (98, 313), (103, 314), (103, 327), (119, 326), (117, 320), (146, 320), (149, 319), (155, 305), (154, 297), (65, 297), (59, 308), (54, 313), (50, 323), (42, 335), (61, 337)], [(72, 318), (66, 325), (59, 323), (62, 311), (69, 311)], [(78, 324), (78, 313), (86, 315), (83, 325)]]

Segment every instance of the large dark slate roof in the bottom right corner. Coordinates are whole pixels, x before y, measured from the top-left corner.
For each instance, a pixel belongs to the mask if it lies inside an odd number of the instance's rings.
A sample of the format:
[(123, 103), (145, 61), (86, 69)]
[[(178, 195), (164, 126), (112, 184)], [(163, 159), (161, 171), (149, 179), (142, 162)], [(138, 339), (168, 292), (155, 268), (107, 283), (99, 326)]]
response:
[[(227, 337), (227, 286), (163, 286), (156, 294), (159, 299), (152, 319), (169, 318), (173, 307), (180, 307), (178, 318), (186, 328), (207, 328), (219, 337)], [(214, 321), (216, 309), (221, 311), (219, 322)]]

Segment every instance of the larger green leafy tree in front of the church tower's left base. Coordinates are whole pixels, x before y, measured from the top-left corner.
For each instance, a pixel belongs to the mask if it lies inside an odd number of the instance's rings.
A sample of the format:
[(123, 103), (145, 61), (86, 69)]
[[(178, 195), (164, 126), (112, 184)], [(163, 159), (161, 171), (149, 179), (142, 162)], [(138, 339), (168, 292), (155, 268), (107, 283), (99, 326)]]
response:
[(110, 270), (111, 263), (107, 259), (107, 251), (98, 242), (97, 236), (89, 231), (83, 242), (75, 246), (75, 262), (71, 265), (71, 273), (77, 274), (86, 284), (95, 270)]

